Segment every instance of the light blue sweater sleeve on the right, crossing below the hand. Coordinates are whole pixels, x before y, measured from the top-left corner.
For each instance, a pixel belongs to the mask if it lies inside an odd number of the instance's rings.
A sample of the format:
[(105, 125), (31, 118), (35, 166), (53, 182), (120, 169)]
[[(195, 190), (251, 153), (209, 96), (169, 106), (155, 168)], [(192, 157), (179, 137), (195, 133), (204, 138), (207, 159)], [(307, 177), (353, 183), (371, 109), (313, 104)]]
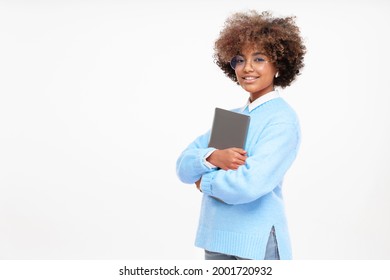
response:
[(243, 204), (260, 198), (282, 182), (297, 155), (299, 142), (297, 124), (266, 127), (244, 165), (237, 170), (213, 170), (202, 176), (203, 193), (227, 204)]

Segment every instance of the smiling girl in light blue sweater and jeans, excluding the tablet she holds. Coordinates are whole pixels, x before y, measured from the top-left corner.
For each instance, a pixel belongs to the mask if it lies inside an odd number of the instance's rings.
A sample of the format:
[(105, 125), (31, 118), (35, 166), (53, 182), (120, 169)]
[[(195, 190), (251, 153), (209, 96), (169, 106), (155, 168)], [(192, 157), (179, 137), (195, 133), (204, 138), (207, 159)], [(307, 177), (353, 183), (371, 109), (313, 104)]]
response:
[(283, 177), (300, 143), (298, 118), (275, 87), (304, 66), (305, 46), (293, 17), (236, 13), (215, 42), (215, 61), (249, 98), (232, 111), (250, 116), (245, 149), (208, 147), (210, 131), (177, 160), (184, 183), (203, 193), (195, 245), (205, 259), (291, 259)]

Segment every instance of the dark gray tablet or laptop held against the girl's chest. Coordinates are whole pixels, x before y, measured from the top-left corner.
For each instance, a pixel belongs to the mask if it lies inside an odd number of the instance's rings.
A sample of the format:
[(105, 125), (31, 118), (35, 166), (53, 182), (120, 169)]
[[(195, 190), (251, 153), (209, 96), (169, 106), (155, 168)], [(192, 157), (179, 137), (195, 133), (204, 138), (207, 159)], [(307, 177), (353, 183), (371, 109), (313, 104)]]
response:
[(215, 108), (209, 147), (216, 149), (244, 148), (250, 117), (248, 115)]

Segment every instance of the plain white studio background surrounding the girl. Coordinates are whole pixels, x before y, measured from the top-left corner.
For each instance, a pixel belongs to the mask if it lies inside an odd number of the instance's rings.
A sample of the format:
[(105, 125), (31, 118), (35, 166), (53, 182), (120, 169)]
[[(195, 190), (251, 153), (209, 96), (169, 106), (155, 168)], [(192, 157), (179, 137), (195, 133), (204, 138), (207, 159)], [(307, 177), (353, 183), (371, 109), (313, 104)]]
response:
[(0, 0), (0, 259), (202, 259), (175, 174), (214, 107), (227, 16), (297, 16), (282, 95), (302, 146), (284, 193), (295, 259), (390, 259), (389, 2)]

